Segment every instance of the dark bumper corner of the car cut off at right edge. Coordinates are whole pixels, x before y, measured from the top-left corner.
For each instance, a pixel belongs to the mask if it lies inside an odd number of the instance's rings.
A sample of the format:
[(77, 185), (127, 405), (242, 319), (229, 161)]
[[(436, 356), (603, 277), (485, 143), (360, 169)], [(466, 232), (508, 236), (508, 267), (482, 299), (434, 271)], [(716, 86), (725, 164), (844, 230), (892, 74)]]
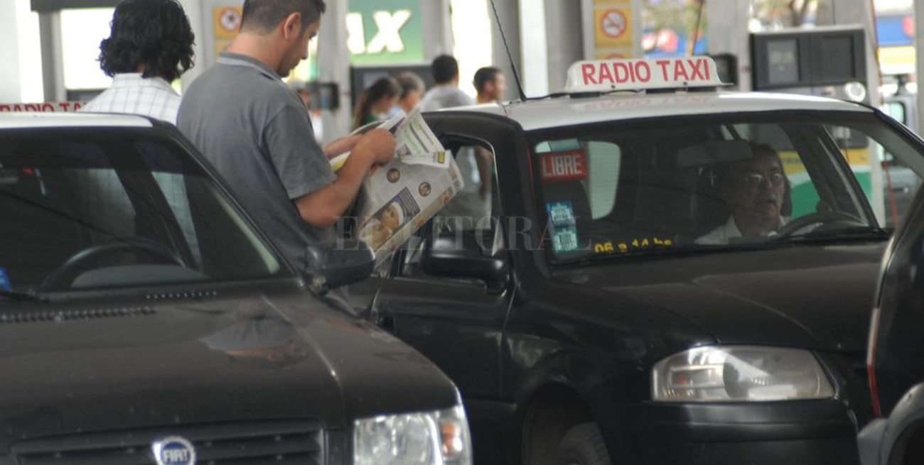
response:
[(860, 431), (857, 435), (860, 462), (862, 465), (885, 465), (900, 460), (908, 439), (922, 427), (924, 384), (919, 384), (906, 392), (888, 418), (878, 418)]

